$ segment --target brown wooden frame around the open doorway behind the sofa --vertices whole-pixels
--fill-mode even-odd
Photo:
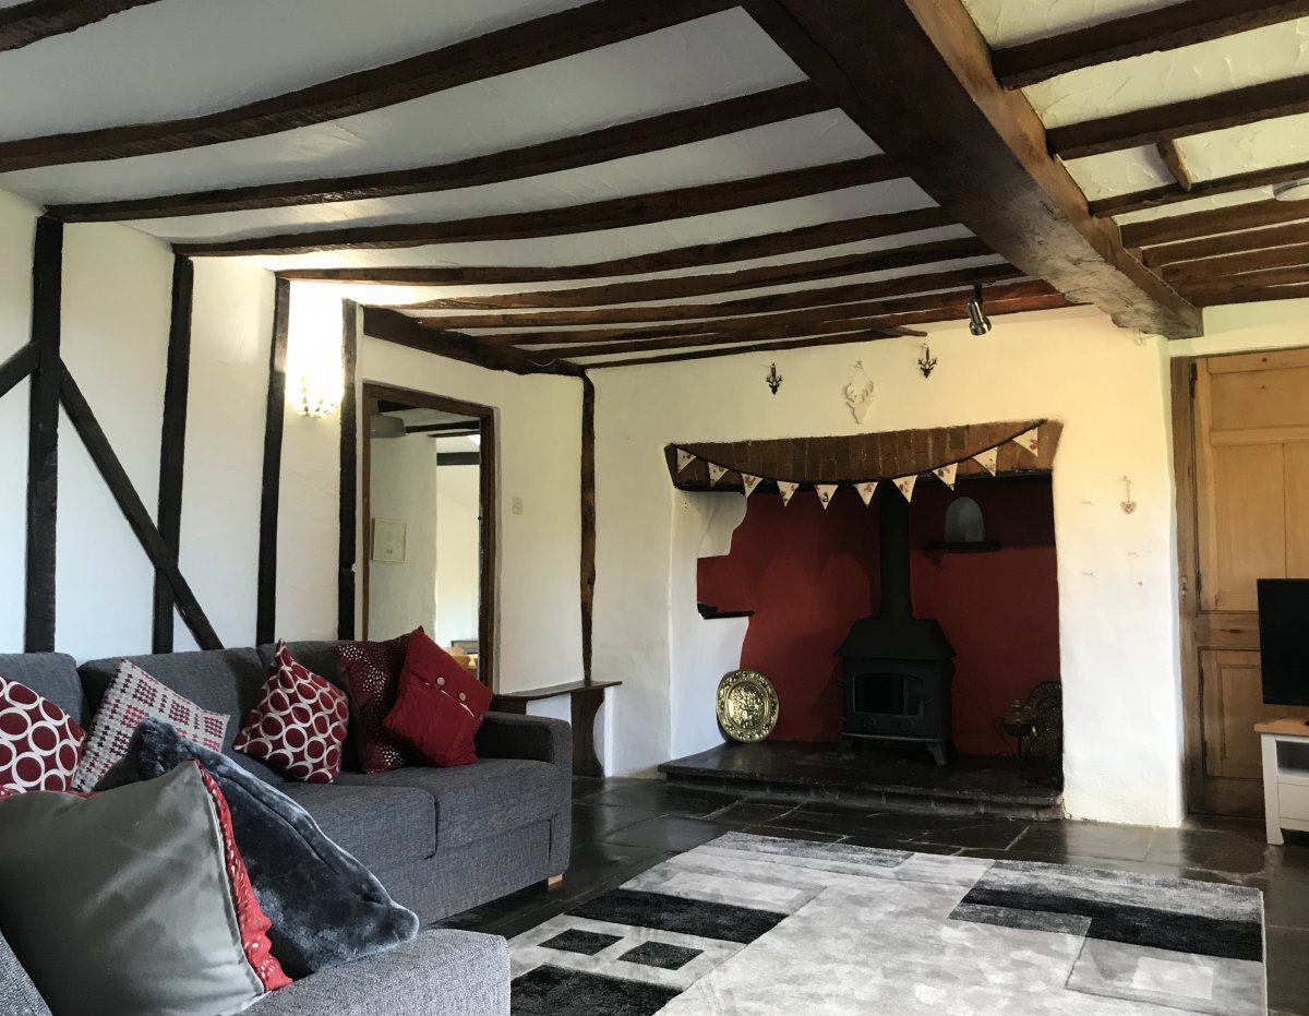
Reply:
[[[480,500],[480,518],[478,521],[478,535],[482,545],[480,554],[480,576],[479,576],[479,589],[478,589],[478,677],[482,680],[487,687],[495,687],[495,673],[496,673],[496,614],[499,600],[496,598],[499,589],[499,512],[500,512],[500,492],[497,482],[497,448],[496,448],[496,428],[495,428],[495,408],[491,406],[482,406],[476,402],[463,402],[462,399],[446,398],[445,395],[436,395],[431,391],[418,391],[410,388],[398,388],[395,385],[386,385],[374,381],[364,381],[360,389],[360,399],[363,406],[363,412],[360,412],[363,433],[363,448],[360,450],[361,460],[361,487],[363,487],[363,512],[361,525],[363,542],[360,546],[364,553],[360,554],[363,562],[363,573],[360,575],[360,600],[363,601],[361,613],[361,638],[368,638],[368,583],[369,571],[372,568],[372,456],[370,445],[372,439],[369,436],[369,412],[368,407],[372,399],[389,399],[391,402],[403,402],[406,405],[414,406],[415,408],[425,410],[439,410],[441,412],[457,412],[463,416],[473,416],[478,420],[478,426],[482,431],[482,466],[478,474],[478,492]],[[435,511],[435,505],[433,505]]]

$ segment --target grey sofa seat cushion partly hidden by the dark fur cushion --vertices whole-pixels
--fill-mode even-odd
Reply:
[[[421,789],[339,783],[283,783],[278,789],[365,868],[398,868],[436,854],[436,805]]]

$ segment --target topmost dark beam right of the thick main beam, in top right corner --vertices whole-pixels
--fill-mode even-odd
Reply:
[[[1309,0],[1189,0],[1102,21],[992,54],[1005,88],[1025,88],[1083,67],[1177,50],[1309,16]]]

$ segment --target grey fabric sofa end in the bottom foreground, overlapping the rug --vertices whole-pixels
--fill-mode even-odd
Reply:
[[[254,1016],[509,1016],[509,944],[433,928],[264,996]]]

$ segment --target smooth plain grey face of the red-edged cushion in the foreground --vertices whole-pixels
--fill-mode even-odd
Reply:
[[[59,1016],[223,1016],[264,994],[194,765],[0,801],[0,927]]]

